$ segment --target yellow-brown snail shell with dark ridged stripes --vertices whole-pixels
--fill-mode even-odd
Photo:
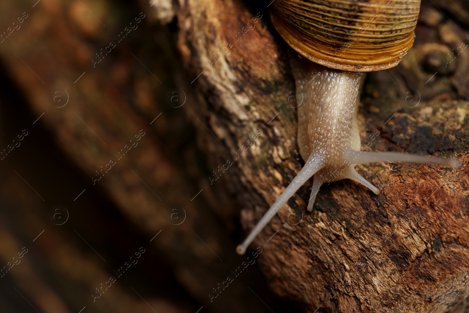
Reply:
[[[414,42],[420,0],[275,0],[272,23],[298,53],[329,68],[396,66]]]

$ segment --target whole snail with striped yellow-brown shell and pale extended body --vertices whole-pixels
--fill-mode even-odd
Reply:
[[[361,148],[356,115],[365,72],[392,68],[408,52],[420,0],[275,0],[272,7],[275,29],[296,52],[290,53],[290,65],[296,94],[303,94],[303,104],[297,108],[297,143],[305,164],[237,246],[238,254],[246,252],[279,209],[313,176],[308,211],[326,182],[349,178],[378,194],[379,189],[356,172],[356,164],[458,164],[457,160]]]

